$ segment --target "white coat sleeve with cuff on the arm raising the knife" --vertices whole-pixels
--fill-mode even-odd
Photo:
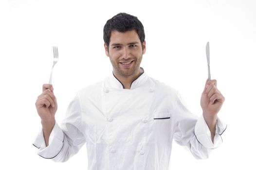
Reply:
[[[203,118],[193,115],[185,106],[180,94],[177,95],[175,103],[176,129],[174,140],[188,150],[197,159],[206,159],[212,149],[222,143],[221,135],[226,129],[226,124],[219,118],[216,124],[214,143],[211,140],[210,130]]]

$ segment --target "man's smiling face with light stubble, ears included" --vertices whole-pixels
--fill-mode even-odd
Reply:
[[[125,33],[112,31],[109,48],[106,44],[104,46],[115,75],[128,77],[140,72],[142,55],[146,52],[146,42],[141,44],[135,30]]]

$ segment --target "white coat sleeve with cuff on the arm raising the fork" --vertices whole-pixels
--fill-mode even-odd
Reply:
[[[41,130],[33,145],[37,147],[37,154],[46,159],[56,162],[65,162],[86,142],[81,123],[81,107],[78,95],[70,103],[65,118],[60,125],[55,123],[46,147]]]

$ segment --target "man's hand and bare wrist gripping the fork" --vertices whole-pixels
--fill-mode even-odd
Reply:
[[[58,107],[53,91],[54,88],[52,85],[43,85],[43,92],[38,96],[36,102],[37,113],[41,118],[46,146],[48,146],[49,136],[55,125],[55,113]]]

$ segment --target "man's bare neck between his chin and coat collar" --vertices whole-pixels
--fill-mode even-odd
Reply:
[[[141,75],[140,68],[130,76],[122,76],[113,70],[114,76],[122,83],[125,89],[130,89],[131,83]]]

